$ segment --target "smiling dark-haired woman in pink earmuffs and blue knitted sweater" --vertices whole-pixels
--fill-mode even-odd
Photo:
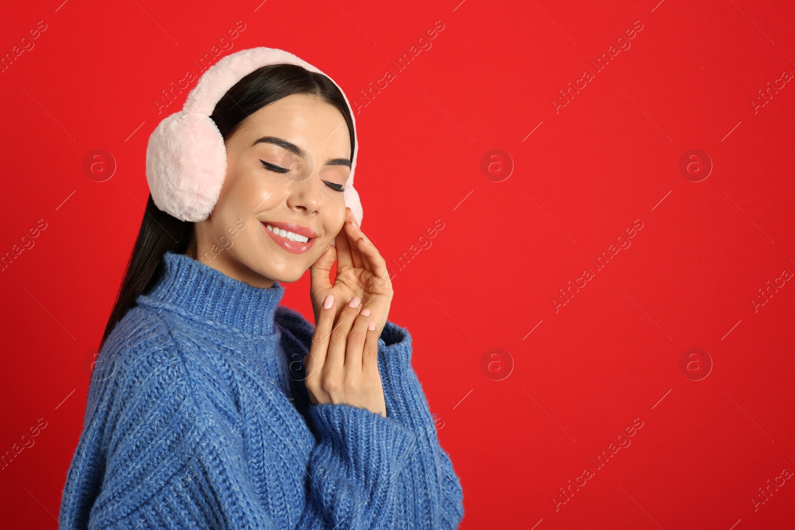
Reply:
[[[342,91],[252,48],[180,113],[149,141],[60,528],[456,528],[460,482],[356,219]],[[315,326],[279,305],[307,269]]]

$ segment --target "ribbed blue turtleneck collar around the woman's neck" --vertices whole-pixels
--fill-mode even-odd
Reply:
[[[168,308],[200,322],[228,327],[246,335],[271,335],[276,308],[285,288],[253,287],[185,254],[167,251],[163,276],[138,303]]]

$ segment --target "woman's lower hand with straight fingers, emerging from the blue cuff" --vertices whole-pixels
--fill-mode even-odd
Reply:
[[[328,295],[325,302],[312,346],[304,356],[309,400],[312,404],[350,404],[386,417],[378,372],[378,333],[370,311],[354,297],[339,308],[336,318],[334,296]]]

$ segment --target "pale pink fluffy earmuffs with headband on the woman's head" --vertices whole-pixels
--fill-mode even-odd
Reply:
[[[325,75],[312,64],[281,49],[259,47],[240,50],[208,68],[188,94],[182,110],[164,118],[155,128],[146,145],[146,180],[152,199],[161,211],[183,221],[207,219],[218,202],[227,174],[227,148],[210,114],[215,104],[240,79],[257,68],[279,63],[297,64],[310,72]],[[334,79],[332,83],[343,92]],[[356,119],[344,92],[343,99],[351,111],[355,131]],[[357,137],[351,153],[351,175],[345,183],[343,198],[361,225],[362,203],[359,193],[353,188],[358,152]]]

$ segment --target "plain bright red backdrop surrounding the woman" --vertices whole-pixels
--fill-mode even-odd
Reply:
[[[154,101],[237,21],[231,51],[293,52],[351,103],[395,74],[356,116],[356,188],[387,260],[444,223],[392,265],[390,319],[413,335],[463,485],[462,528],[792,528],[792,478],[751,501],[795,471],[795,285],[751,302],[795,273],[795,83],[751,103],[795,73],[792,2],[456,1],[2,8],[2,54],[47,25],[0,74],[0,253],[46,222],[0,273],[2,454],[46,422],[0,473],[8,528],[56,528],[86,360],[149,193],[146,141],[187,90],[162,114]],[[390,61],[436,21],[432,47],[398,72]],[[596,72],[589,60],[635,21],[631,47]],[[595,78],[556,113],[586,69]],[[107,181],[83,172],[93,149],[117,164]],[[491,149],[506,154],[484,174]],[[680,172],[689,149],[711,158],[705,180]],[[636,219],[631,246],[595,270]],[[586,268],[595,277],[556,311]],[[308,285],[290,284],[284,302],[311,318]],[[712,360],[700,381],[686,375],[706,357],[680,369],[693,347]],[[491,348],[508,353],[483,371]],[[597,468],[636,418],[630,446]],[[586,466],[594,476],[563,503]]]

